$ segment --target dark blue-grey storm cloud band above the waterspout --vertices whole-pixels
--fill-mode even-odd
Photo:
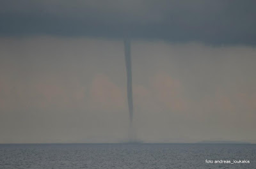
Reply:
[[[1,1],[1,36],[51,34],[256,45],[256,1]]]

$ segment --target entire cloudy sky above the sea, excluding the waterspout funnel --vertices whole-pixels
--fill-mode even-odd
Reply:
[[[1,1],[0,143],[256,142],[255,1]]]

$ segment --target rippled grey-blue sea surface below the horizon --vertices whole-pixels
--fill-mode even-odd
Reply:
[[[0,144],[0,168],[256,168],[256,144]]]

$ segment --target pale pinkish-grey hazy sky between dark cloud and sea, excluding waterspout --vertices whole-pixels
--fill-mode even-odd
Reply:
[[[0,142],[122,142],[123,40],[2,38]],[[255,142],[254,47],[132,41],[144,142]]]

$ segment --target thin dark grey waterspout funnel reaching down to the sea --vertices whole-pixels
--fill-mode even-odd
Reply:
[[[132,65],[131,65],[131,41],[129,39],[124,40],[124,52],[125,52],[125,66],[127,74],[127,100],[129,107],[130,128],[129,139],[134,140],[134,129],[132,126],[133,120],[133,101],[132,101]]]

